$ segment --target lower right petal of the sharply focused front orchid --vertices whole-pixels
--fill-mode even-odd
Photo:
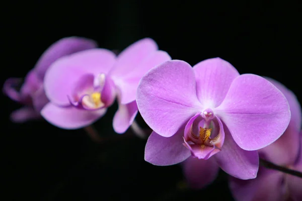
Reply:
[[[221,151],[213,156],[219,167],[236,178],[255,178],[259,168],[258,152],[241,149],[235,143],[230,131],[225,128],[225,125],[224,134],[224,143]]]

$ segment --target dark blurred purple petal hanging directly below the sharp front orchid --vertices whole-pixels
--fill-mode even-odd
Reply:
[[[212,183],[219,171],[214,158],[203,160],[191,156],[182,163],[182,167],[189,186],[195,189]]]

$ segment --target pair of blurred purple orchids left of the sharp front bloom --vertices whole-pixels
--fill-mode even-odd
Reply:
[[[70,37],[49,47],[27,75],[20,92],[19,79],[6,81],[4,92],[26,108],[12,114],[14,121],[43,117],[63,129],[86,127],[105,113],[114,100],[118,111],[113,128],[124,133],[136,114],[136,88],[140,78],[152,67],[171,60],[145,38],[127,47],[118,56],[97,48],[96,42]]]

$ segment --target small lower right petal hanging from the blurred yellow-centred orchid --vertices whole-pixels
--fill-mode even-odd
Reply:
[[[137,114],[137,105],[133,101],[129,104],[119,104],[113,118],[113,129],[116,133],[125,133]]]

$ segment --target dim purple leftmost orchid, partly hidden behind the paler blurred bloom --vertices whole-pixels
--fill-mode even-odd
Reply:
[[[35,67],[28,72],[20,91],[16,90],[16,86],[20,85],[22,78],[7,79],[3,87],[4,93],[16,102],[25,105],[11,114],[12,121],[22,123],[41,118],[40,111],[48,103],[43,89],[43,79],[47,68],[62,56],[95,47],[97,47],[97,43],[86,38],[60,39],[42,54]]]

